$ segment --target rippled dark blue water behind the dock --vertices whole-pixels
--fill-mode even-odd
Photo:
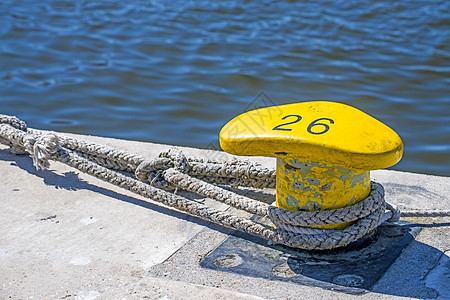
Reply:
[[[0,113],[206,148],[245,110],[333,100],[400,134],[394,169],[450,176],[449,12],[429,0],[2,0]]]

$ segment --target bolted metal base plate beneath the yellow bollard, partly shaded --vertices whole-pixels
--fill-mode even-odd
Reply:
[[[268,246],[263,240],[237,233],[209,253],[200,266],[362,294],[375,285],[419,231],[406,222],[385,224],[360,241],[329,251]]]

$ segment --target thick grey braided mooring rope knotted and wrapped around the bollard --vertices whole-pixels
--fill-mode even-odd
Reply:
[[[326,211],[290,211],[254,200],[225,188],[225,185],[274,188],[276,171],[245,161],[219,162],[186,157],[176,149],[158,158],[27,128],[16,117],[0,115],[0,143],[17,154],[28,153],[34,166],[49,167],[55,160],[116,186],[164,205],[198,216],[220,226],[243,231],[273,244],[307,250],[325,250],[348,245],[373,231],[385,221],[395,222],[400,210],[384,200],[384,189],[371,182],[369,196],[349,207]],[[124,175],[125,171],[130,175]],[[177,194],[197,193],[249,213],[267,217],[274,226],[259,224]],[[388,210],[386,212],[386,210]],[[411,211],[403,216],[449,216],[450,211]],[[342,230],[312,226],[354,222]]]

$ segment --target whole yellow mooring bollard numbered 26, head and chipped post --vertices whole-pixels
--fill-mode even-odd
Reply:
[[[366,198],[370,170],[396,164],[403,143],[388,126],[336,102],[310,101],[241,114],[220,131],[224,151],[277,157],[278,207],[318,211]],[[319,226],[342,229],[350,223]]]

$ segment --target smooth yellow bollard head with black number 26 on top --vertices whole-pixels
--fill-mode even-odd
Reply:
[[[402,140],[391,128],[330,101],[249,111],[228,122],[219,137],[231,154],[296,157],[353,170],[386,168],[403,154]]]

